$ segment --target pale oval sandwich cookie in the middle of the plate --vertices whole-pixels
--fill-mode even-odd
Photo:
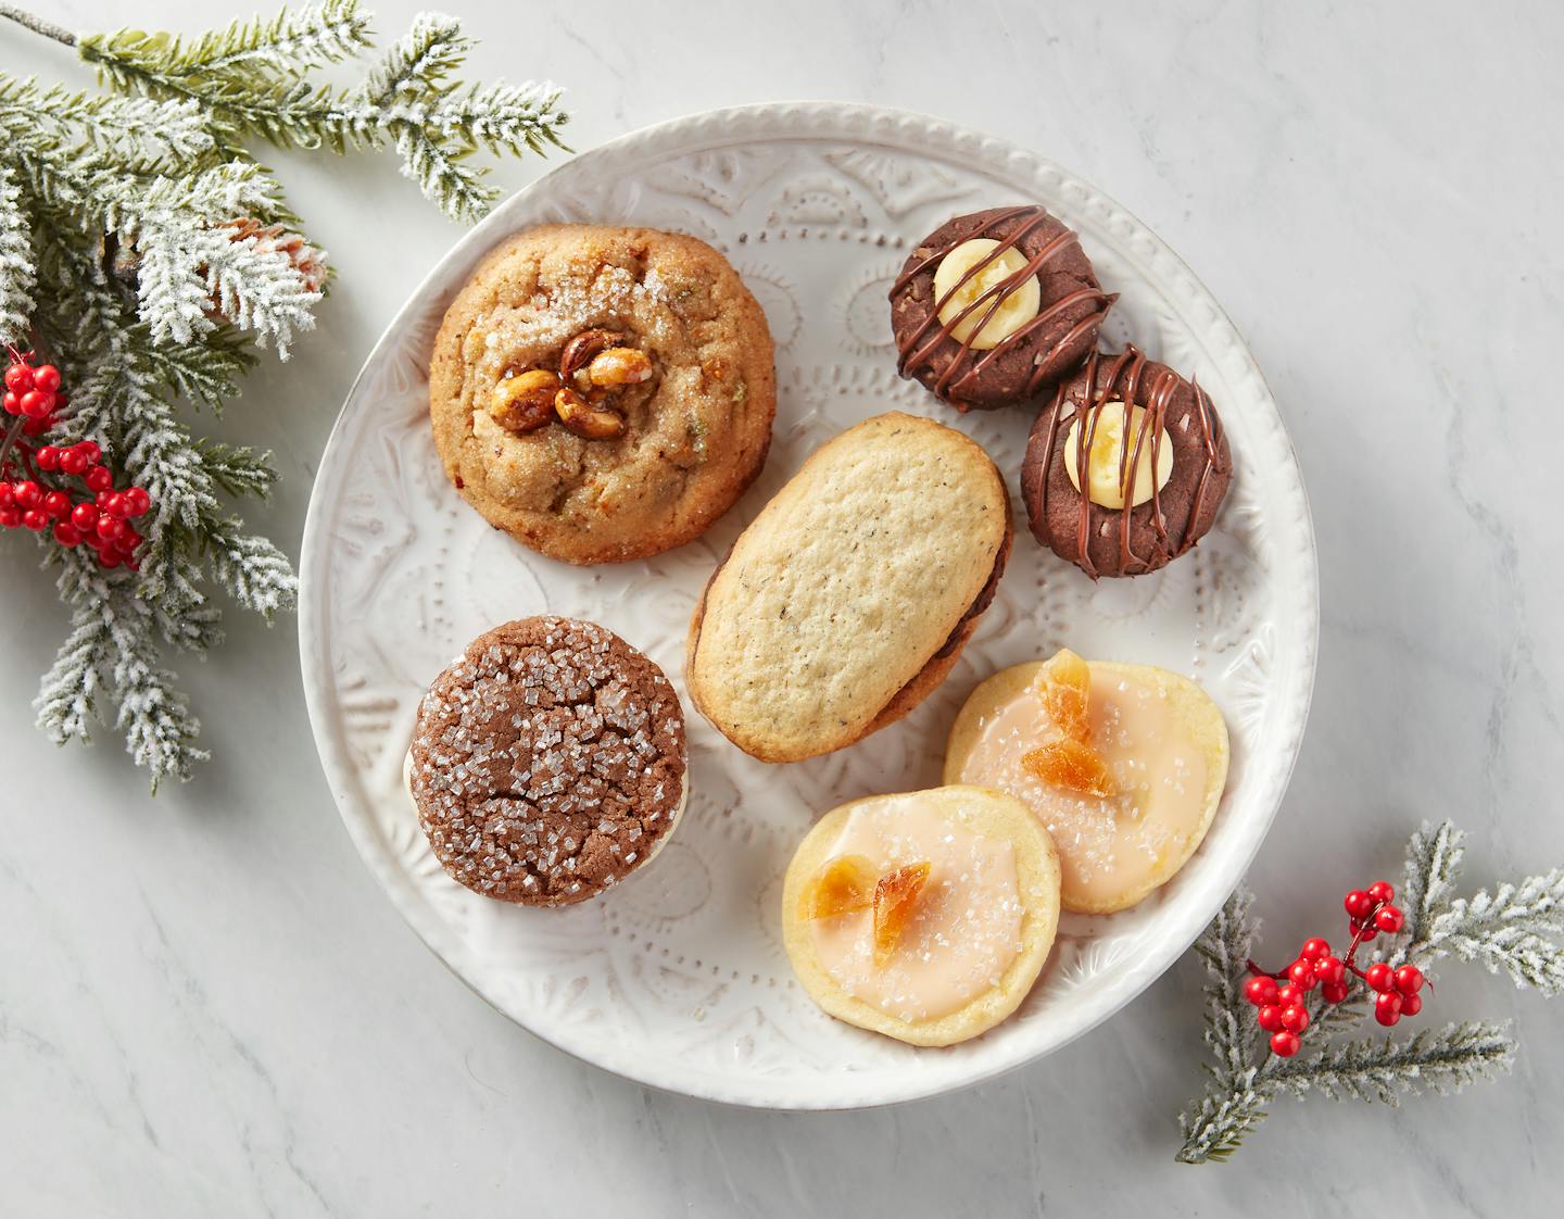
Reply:
[[[1009,496],[978,444],[898,412],[849,427],[712,574],[690,698],[766,762],[851,745],[945,679],[1009,549]]]

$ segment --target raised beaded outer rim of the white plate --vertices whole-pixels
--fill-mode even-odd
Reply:
[[[591,177],[593,174],[612,169],[616,163],[630,160],[644,163],[652,156],[673,158],[740,144],[823,138],[841,138],[863,147],[877,147],[902,155],[931,153],[945,163],[959,164],[973,172],[1017,183],[1028,180],[1038,183],[1043,177],[1054,175],[1059,183],[1082,191],[1085,207],[1096,205],[1106,208],[1107,214],[1103,224],[1117,224],[1140,241],[1148,250],[1139,255],[1142,261],[1148,258],[1156,260],[1164,272],[1162,279],[1168,275],[1178,277],[1179,297],[1176,304],[1186,310],[1203,307],[1209,313],[1209,318],[1203,322],[1184,318],[1190,332],[1196,335],[1196,341],[1209,349],[1211,336],[1225,330],[1229,346],[1237,351],[1245,363],[1245,376],[1256,380],[1259,396],[1270,405],[1273,418],[1267,423],[1273,424],[1275,437],[1282,446],[1281,457],[1273,463],[1273,469],[1284,469],[1292,476],[1290,485],[1281,488],[1281,493],[1284,498],[1290,498],[1293,507],[1298,510],[1298,520],[1293,523],[1292,534],[1297,551],[1292,559],[1301,563],[1300,571],[1303,574],[1301,587],[1287,590],[1290,598],[1297,598],[1293,609],[1301,615],[1298,624],[1303,634],[1300,638],[1301,656],[1293,673],[1293,696],[1290,704],[1284,707],[1286,715],[1278,729],[1284,740],[1275,742],[1273,750],[1251,761],[1251,765],[1261,765],[1262,762],[1267,765],[1264,775],[1265,784],[1259,790],[1257,800],[1251,801],[1253,809],[1243,820],[1229,815],[1220,825],[1221,834],[1229,840],[1228,865],[1218,878],[1220,883],[1207,884],[1201,900],[1186,900],[1184,904],[1189,909],[1182,911],[1182,917],[1176,925],[1160,933],[1160,939],[1151,945],[1153,950],[1142,953],[1142,959],[1121,965],[1112,978],[1093,986],[1093,994],[1073,1005],[1067,1017],[1042,1022],[1034,1027],[1032,1036],[1013,1039],[1009,1055],[995,1056],[993,1061],[984,1063],[982,1069],[974,1069],[976,1064],[963,1069],[960,1047],[956,1047],[951,1052],[943,1052],[948,1056],[937,1064],[943,1069],[901,1070],[896,1073],[895,1084],[885,1083],[884,1077],[895,1070],[887,1069],[876,1073],[877,1086],[873,1089],[863,1086],[870,1080],[854,1080],[846,1072],[840,1077],[765,1077],[765,1083],[760,1083],[754,1078],[740,1080],[718,1070],[696,1069],[677,1061],[638,1059],[633,1047],[629,1050],[610,1050],[601,1044],[588,1047],[572,1042],[565,1034],[565,1030],[544,1028],[536,1020],[529,1022],[524,1014],[511,1011],[504,1001],[496,998],[485,984],[485,973],[488,970],[485,962],[421,898],[410,876],[396,862],[380,828],[368,811],[369,796],[360,787],[358,768],[352,764],[349,754],[338,714],[336,692],[330,681],[332,638],[325,613],[330,593],[324,565],[330,562],[330,527],[333,524],[335,507],[330,488],[335,487],[343,473],[343,465],[349,457],[350,446],[343,438],[346,424],[352,412],[372,408],[371,404],[360,399],[366,380],[385,360],[388,352],[393,351],[399,333],[418,311],[429,288],[443,277],[447,268],[457,263],[471,263],[504,233],[516,227],[518,213],[535,197],[546,197],[551,189],[558,189],[561,183],[568,183],[574,175]],[[1126,254],[1126,257],[1129,255]],[[1182,260],[1121,205],[1043,156],[1007,141],[985,136],[932,116],[837,102],[762,103],[671,119],[580,153],[499,205],[482,224],[457,241],[436,261],[364,360],[344,399],[344,405],[338,413],[321,458],[321,468],[310,496],[300,559],[299,651],[305,701],[321,764],[343,822],[366,867],[382,887],[385,887],[393,904],[425,945],[474,992],[499,1011],[540,1039],[582,1061],[593,1063],[594,1066],[654,1088],[759,1108],[862,1108],[935,1095],[993,1078],[1045,1053],[1051,1053],[1129,1003],[1140,991],[1160,976],[1182,955],[1189,944],[1193,942],[1195,936],[1198,936],[1200,930],[1226,898],[1231,887],[1242,878],[1243,870],[1259,850],[1265,831],[1279,809],[1293,764],[1297,762],[1314,687],[1317,649],[1318,570],[1314,527],[1309,516],[1308,494],[1292,452],[1290,438],[1275,410],[1275,401],[1264,383],[1264,376],[1237,329]],[[1217,829],[1214,828],[1212,836],[1207,839],[1207,847],[1203,847],[1203,850],[1209,848],[1215,836]]]

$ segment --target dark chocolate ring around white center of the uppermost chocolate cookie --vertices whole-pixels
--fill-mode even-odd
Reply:
[[[1023,332],[992,351],[942,333],[934,277],[942,258],[973,238],[1013,243],[1037,268],[1040,308]],[[901,372],[959,410],[992,410],[1051,390],[1096,344],[1114,297],[1103,293],[1076,235],[1040,207],[956,216],[907,258],[890,294]]]

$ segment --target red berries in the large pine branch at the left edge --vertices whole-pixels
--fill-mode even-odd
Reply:
[[[0,449],[0,527],[48,529],[61,546],[92,546],[103,566],[124,563],[135,570],[141,534],[131,521],[150,510],[152,496],[142,487],[114,490],[103,451],[91,440],[36,449],[22,440],[53,427],[55,412],[64,405],[58,368],[33,368],[13,351],[5,387],[5,410],[16,421]],[[77,498],[77,480],[84,498]]]

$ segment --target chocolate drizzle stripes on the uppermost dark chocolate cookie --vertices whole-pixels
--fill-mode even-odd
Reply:
[[[921,257],[915,255],[913,260],[909,260],[907,268],[896,279],[896,283],[891,285],[891,302],[907,291],[918,275],[932,272],[938,268],[940,261],[943,261],[945,257],[957,246],[978,238],[987,238],[998,243],[985,258],[968,268],[967,274],[962,275],[948,293],[935,297],[932,308],[929,310],[929,316],[924,318],[921,324],[912,327],[907,333],[899,336],[896,344],[896,371],[904,377],[917,377],[923,372],[932,372],[935,352],[938,352],[948,341],[957,343],[960,347],[957,357],[946,365],[929,388],[940,397],[956,402],[960,410],[965,410],[965,404],[957,401],[963,397],[963,388],[970,390],[976,379],[981,377],[984,371],[995,363],[995,360],[1006,352],[1015,351],[1023,343],[1032,341],[1034,336],[1038,336],[1037,341],[1040,343],[1045,327],[1057,322],[1079,305],[1092,304],[1093,308],[1090,313],[1078,319],[1059,341],[1053,343],[1046,351],[1040,351],[1034,357],[1032,372],[1028,377],[1024,390],[1020,396],[1031,397],[1042,390],[1051,377],[1056,377],[1060,369],[1053,366],[1054,354],[1068,351],[1071,344],[1095,335],[1096,329],[1103,324],[1103,318],[1107,316],[1109,307],[1118,299],[1117,293],[1104,293],[1095,285],[1078,288],[1065,293],[1056,300],[1045,300],[1035,318],[1031,318],[1012,335],[1007,335],[988,351],[979,354],[978,349],[973,347],[973,340],[982,332],[984,325],[988,324],[993,315],[998,313],[999,305],[1010,293],[1026,283],[1029,277],[1042,272],[1043,268],[1064,250],[1079,244],[1076,233],[1068,228],[1062,228],[1059,233],[1048,238],[1035,254],[1028,257],[1026,266],[1020,271],[985,289],[976,300],[957,311],[948,322],[940,322],[940,310],[943,310],[945,305],[949,304],[949,300],[962,288],[965,288],[974,275],[982,274],[984,269],[987,269],[995,260],[1001,258],[1007,250],[1021,249],[1021,243],[1028,236],[1051,222],[1054,222],[1053,216],[1037,205],[999,208],[993,211],[976,230],[952,238],[938,249],[924,250],[920,247],[918,254]],[[1006,227],[1009,227],[1010,232],[999,236],[1001,230]],[[981,316],[978,316],[978,322],[971,327],[968,336],[965,340],[957,340],[954,333],[956,329],[967,319],[979,315],[979,311]]]

